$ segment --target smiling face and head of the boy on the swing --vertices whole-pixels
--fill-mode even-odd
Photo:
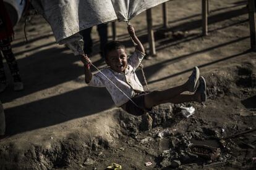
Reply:
[[[106,63],[109,67],[118,72],[123,72],[127,67],[127,54],[125,49],[114,49],[106,56]]]

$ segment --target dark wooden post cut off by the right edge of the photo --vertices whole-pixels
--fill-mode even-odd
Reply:
[[[255,1],[248,0],[249,7],[249,23],[250,23],[250,47],[256,50],[256,34],[255,34]]]

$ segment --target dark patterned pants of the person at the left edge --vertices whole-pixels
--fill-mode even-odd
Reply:
[[[10,43],[10,39],[2,39],[0,40],[0,50],[6,59],[6,62],[10,68],[12,77],[14,78],[14,82],[21,81],[19,67],[17,65],[17,61],[12,53],[12,47]],[[0,52],[0,83],[6,83],[6,74],[4,73],[4,64],[2,63],[3,57]]]

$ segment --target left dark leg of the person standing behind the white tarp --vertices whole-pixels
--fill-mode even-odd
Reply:
[[[93,46],[91,32],[92,32],[92,27],[80,31],[81,35],[83,36],[83,52],[85,52],[85,54],[87,54],[89,57],[90,55],[92,55],[92,46]]]

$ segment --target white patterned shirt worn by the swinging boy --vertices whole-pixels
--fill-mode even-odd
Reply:
[[[134,54],[130,55],[127,67],[124,73],[117,73],[111,70],[110,67],[103,68],[101,72],[111,79],[119,89],[121,89],[128,97],[132,98],[135,95],[135,91],[144,91],[142,84],[140,83],[135,70],[139,67],[145,54],[140,51],[135,51]],[[94,87],[106,87],[108,92],[111,94],[112,99],[117,107],[120,107],[124,103],[128,102],[129,99],[124,95],[113,83],[105,78],[100,72],[92,76],[89,86]]]

